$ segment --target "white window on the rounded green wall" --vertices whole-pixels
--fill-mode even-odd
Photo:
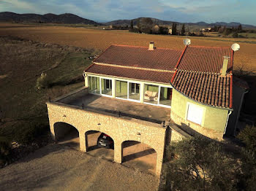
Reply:
[[[187,120],[201,125],[203,120],[203,107],[195,104],[188,104]]]

